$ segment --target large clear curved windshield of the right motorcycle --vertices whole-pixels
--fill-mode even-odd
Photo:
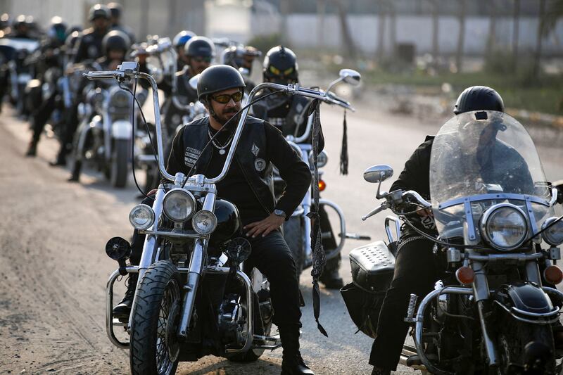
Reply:
[[[441,237],[473,243],[480,241],[476,227],[491,205],[519,206],[529,218],[529,234],[552,215],[551,191],[530,135],[496,111],[462,113],[441,127],[431,151],[430,196]]]

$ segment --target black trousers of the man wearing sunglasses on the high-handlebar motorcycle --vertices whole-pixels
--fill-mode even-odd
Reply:
[[[152,205],[150,198],[143,201]],[[296,265],[280,231],[272,231],[265,237],[255,239],[248,237],[252,246],[250,258],[246,260],[251,266],[265,274],[270,281],[270,295],[274,307],[274,324],[280,329],[298,329],[301,327],[301,310],[299,309],[299,280]],[[132,254],[129,258],[132,265],[139,265],[143,252],[145,236],[134,231]]]

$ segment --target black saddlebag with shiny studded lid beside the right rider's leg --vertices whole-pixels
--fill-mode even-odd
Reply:
[[[375,337],[379,311],[395,269],[395,255],[383,241],[350,251],[352,283],[341,289],[348,314],[359,331]]]

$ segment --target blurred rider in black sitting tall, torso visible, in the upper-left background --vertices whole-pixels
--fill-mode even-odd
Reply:
[[[90,8],[88,20],[92,27],[84,30],[80,42],[77,43],[75,63],[96,60],[103,55],[101,41],[110,30],[110,16],[110,9],[103,4],[96,4]]]

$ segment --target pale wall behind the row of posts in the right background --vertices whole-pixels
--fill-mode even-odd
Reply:
[[[269,34],[280,30],[281,18],[272,14],[253,14],[253,35]],[[377,51],[379,18],[377,15],[350,15],[348,25],[356,45],[363,53]],[[459,32],[457,18],[442,16],[438,22],[439,49],[443,54],[455,53]],[[341,49],[342,34],[336,15],[326,15],[321,27],[317,14],[293,14],[286,19],[287,39],[291,46],[310,48],[319,45]],[[465,53],[481,55],[486,48],[489,30],[488,18],[467,18],[465,20]],[[512,45],[512,18],[498,18],[496,24],[496,45],[509,48]],[[389,20],[386,20],[385,46],[391,48]],[[322,32],[322,35],[320,35]],[[538,32],[537,18],[521,18],[519,23],[519,50],[533,50]],[[396,18],[396,40],[416,45],[417,53],[431,52],[432,18],[429,16],[398,15]],[[543,41],[545,55],[563,55],[563,21],[557,23],[555,33]]]

